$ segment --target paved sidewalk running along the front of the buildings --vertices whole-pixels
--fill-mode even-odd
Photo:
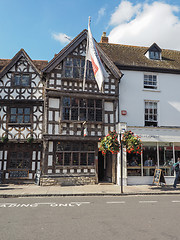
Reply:
[[[180,194],[180,186],[96,184],[84,186],[38,186],[35,184],[0,184],[0,198],[54,196],[127,196]]]

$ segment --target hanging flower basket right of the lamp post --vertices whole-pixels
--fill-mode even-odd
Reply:
[[[142,153],[142,142],[138,135],[134,135],[131,131],[126,131],[122,136],[122,144],[126,146],[128,153]]]

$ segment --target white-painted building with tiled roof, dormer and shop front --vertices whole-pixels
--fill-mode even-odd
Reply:
[[[119,84],[120,123],[143,142],[141,156],[124,153],[124,184],[152,184],[155,168],[172,184],[171,164],[180,156],[180,52],[161,50],[155,43],[149,48],[107,41],[99,45],[124,74]]]

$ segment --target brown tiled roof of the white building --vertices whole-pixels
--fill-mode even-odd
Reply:
[[[180,51],[162,49],[162,60],[148,59],[149,47],[111,43],[98,43],[103,51],[121,69],[144,68],[149,70],[180,71]]]

